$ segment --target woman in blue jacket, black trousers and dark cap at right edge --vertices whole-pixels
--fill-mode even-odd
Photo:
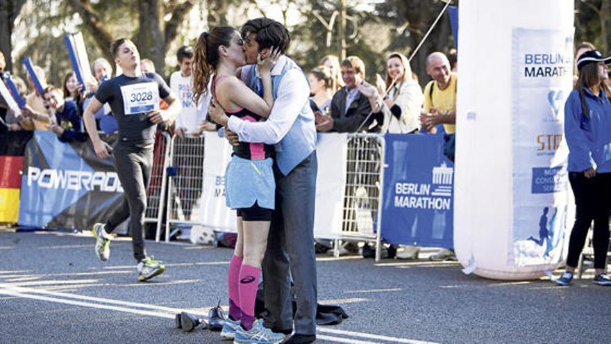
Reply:
[[[609,246],[611,210],[611,92],[605,80],[608,72],[599,51],[582,54],[577,60],[579,78],[564,104],[564,136],[569,145],[569,181],[575,195],[575,224],[569,240],[567,270],[556,280],[567,286],[573,279],[587,231],[594,220],[594,283],[611,285],[604,273]]]

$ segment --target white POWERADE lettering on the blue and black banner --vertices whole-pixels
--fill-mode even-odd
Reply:
[[[28,186],[63,190],[99,190],[106,193],[122,193],[123,188],[116,172],[90,172],[55,170],[28,167]]]

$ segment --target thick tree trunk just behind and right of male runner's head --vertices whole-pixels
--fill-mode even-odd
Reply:
[[[165,77],[165,34],[162,0],[138,0],[139,27],[134,43],[141,58],[153,60],[157,73]]]

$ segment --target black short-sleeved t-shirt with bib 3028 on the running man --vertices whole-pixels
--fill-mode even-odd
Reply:
[[[121,74],[100,85],[95,97],[100,103],[110,105],[112,115],[119,124],[119,140],[155,140],[156,125],[149,120],[147,113],[152,110],[152,103],[156,99],[153,92],[156,90],[159,99],[164,99],[171,92],[167,83],[156,73],[144,73],[136,78]],[[124,94],[128,95],[127,99],[124,99]]]

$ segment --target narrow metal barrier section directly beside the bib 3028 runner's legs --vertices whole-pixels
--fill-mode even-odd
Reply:
[[[147,211],[144,213],[145,223],[156,223],[156,240],[159,241],[163,220],[163,208],[166,193],[166,165],[169,156],[170,136],[166,132],[158,131],[155,134],[155,147],[153,148],[153,167],[151,181],[147,187]]]

